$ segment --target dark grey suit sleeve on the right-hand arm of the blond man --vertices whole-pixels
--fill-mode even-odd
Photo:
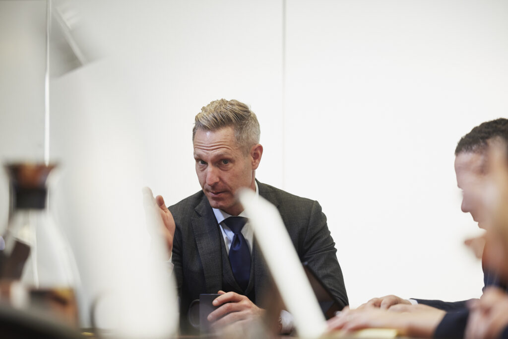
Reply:
[[[320,204],[313,201],[300,259],[308,262],[310,268],[344,307],[349,302],[336,252],[326,215]]]

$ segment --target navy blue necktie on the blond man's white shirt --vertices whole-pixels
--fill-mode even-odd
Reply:
[[[231,263],[235,280],[244,292],[247,289],[250,277],[249,246],[241,233],[246,222],[247,218],[243,217],[229,217],[224,220],[226,226],[235,233],[231,248],[229,249],[229,262]]]

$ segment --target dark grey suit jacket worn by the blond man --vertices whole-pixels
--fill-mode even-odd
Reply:
[[[347,305],[342,271],[336,257],[337,250],[320,204],[259,181],[258,188],[260,196],[274,204],[280,212],[300,260],[309,263],[335,298],[342,302],[342,306]],[[176,224],[173,274],[180,297],[180,319],[185,321],[189,303],[199,299],[200,293],[217,293],[223,289],[225,277],[221,243],[224,243],[224,239],[202,191],[170,206],[169,210]],[[263,307],[263,293],[268,288],[270,278],[256,240],[253,243],[252,257],[254,274],[245,294],[249,295],[253,290],[256,304]]]

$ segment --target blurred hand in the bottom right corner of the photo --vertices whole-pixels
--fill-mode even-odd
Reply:
[[[465,338],[496,338],[508,326],[508,294],[491,287],[469,304]]]

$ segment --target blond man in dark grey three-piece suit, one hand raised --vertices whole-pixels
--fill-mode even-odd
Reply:
[[[196,173],[202,191],[165,207],[156,198],[172,249],[173,274],[185,327],[189,303],[200,293],[222,294],[209,316],[216,326],[263,314],[269,276],[243,207],[235,194],[249,188],[277,206],[301,261],[307,261],[345,306],[347,295],[325,214],[316,201],[297,197],[256,180],[263,155],[256,115],[243,103],[212,101],[196,115],[193,129]],[[233,225],[235,223],[235,225]],[[281,254],[283,255],[283,254]],[[281,332],[291,316],[279,318]]]

